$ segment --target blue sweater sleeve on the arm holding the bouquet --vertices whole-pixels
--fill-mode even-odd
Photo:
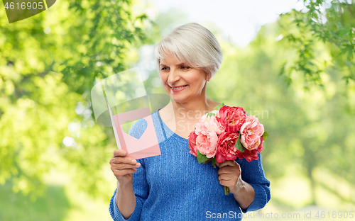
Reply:
[[[263,171],[261,154],[258,154],[258,160],[248,162],[246,159],[240,159],[237,162],[241,166],[241,179],[249,183],[255,192],[253,203],[251,203],[249,208],[246,208],[246,210],[241,208],[241,211],[251,212],[263,208],[270,200],[271,194],[270,181],[266,179],[265,173]]]

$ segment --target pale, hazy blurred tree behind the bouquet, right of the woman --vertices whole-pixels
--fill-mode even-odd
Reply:
[[[310,189],[295,189],[300,196],[307,193],[301,205],[320,204],[317,189],[327,188],[343,203],[354,203],[351,196],[339,193],[337,184],[320,179],[320,169],[332,176],[354,183],[354,110],[355,85],[345,89],[339,69],[320,72],[320,80],[327,90],[322,93],[310,86],[305,93],[302,77],[296,75],[293,84],[280,81],[278,69],[283,60],[297,62],[297,52],[287,39],[280,40],[283,16],[278,23],[263,26],[256,39],[247,47],[222,43],[224,61],[216,77],[207,84],[212,99],[227,105],[241,106],[246,113],[256,115],[270,137],[264,144],[263,166],[266,176],[273,181],[283,176],[305,177]],[[322,47],[314,40],[318,57],[329,57],[332,47]],[[224,89],[221,89],[223,85]],[[344,94],[348,94],[344,96]],[[336,181],[335,181],[336,183]],[[271,183],[271,186],[275,183]],[[275,200],[273,200],[275,198]],[[295,208],[297,203],[285,195],[271,200]]]

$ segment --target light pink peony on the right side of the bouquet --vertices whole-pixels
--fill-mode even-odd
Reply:
[[[259,123],[258,118],[253,115],[246,117],[245,123],[241,126],[241,144],[249,150],[257,149],[261,145],[261,136],[264,133],[264,126]]]

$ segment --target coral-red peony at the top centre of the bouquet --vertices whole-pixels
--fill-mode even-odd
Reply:
[[[246,120],[246,113],[240,107],[223,106],[219,109],[219,118],[227,132],[238,132]]]

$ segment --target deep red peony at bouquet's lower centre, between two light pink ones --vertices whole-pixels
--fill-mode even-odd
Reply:
[[[236,149],[234,145],[238,141],[238,132],[224,132],[218,137],[216,159],[222,163],[226,160],[234,160],[236,157],[243,157],[243,152]]]

